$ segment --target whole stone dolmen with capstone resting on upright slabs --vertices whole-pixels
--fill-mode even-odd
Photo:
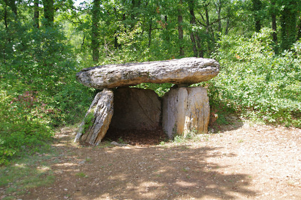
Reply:
[[[81,70],[76,79],[102,90],[90,105],[74,142],[98,145],[108,128],[158,130],[172,138],[191,131],[207,133],[209,99],[203,87],[188,87],[219,73],[213,59],[183,58],[156,62],[101,65]],[[163,97],[140,83],[174,83]]]

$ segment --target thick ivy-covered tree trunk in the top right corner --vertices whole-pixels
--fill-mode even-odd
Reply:
[[[294,0],[287,0],[284,3],[284,9],[281,13],[281,48],[282,50],[289,49],[296,41],[296,2]]]

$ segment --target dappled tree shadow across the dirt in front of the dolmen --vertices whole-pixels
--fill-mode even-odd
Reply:
[[[22,199],[240,199],[254,196],[248,174],[208,159],[236,156],[190,145],[92,147],[61,137],[56,180]],[[224,170],[223,170],[224,169]]]

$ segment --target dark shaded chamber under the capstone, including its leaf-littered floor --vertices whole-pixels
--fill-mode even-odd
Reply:
[[[148,145],[167,138],[161,126],[161,99],[153,90],[118,88],[113,92],[113,116],[103,140]]]

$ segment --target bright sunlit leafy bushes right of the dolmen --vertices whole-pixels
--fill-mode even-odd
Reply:
[[[220,74],[206,87],[213,105],[228,105],[245,116],[300,127],[301,42],[281,55],[273,53],[271,30],[250,39],[224,36],[215,54]]]

